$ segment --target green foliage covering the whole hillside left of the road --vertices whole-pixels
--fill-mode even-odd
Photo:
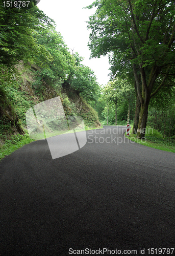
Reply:
[[[1,4],[0,14],[0,158],[33,141],[27,135],[13,134],[22,133],[20,126],[26,127],[26,112],[39,101],[59,95],[66,115],[81,114],[87,125],[99,126],[90,105],[83,101],[78,113],[76,104],[63,93],[66,85],[92,101],[98,98],[99,85],[94,72],[81,65],[83,58],[78,53],[70,54],[54,21],[37,8],[34,0],[29,8]],[[31,65],[37,71],[32,72]],[[48,131],[56,129],[53,113],[46,125]],[[60,126],[64,129],[64,123]]]

